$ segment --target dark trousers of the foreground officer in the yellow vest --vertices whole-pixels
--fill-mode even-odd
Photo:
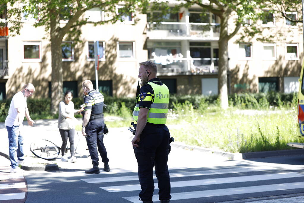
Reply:
[[[133,147],[138,164],[138,178],[143,201],[152,201],[154,191],[153,166],[158,181],[160,200],[171,199],[171,185],[168,171],[168,146],[170,132],[167,126],[147,123],[140,135],[138,147]]]

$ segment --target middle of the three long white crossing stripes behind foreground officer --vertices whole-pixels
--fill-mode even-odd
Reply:
[[[190,187],[199,185],[212,185],[212,184],[225,184],[225,183],[238,183],[238,182],[249,182],[249,181],[262,181],[262,180],[274,180],[280,178],[292,178],[292,177],[303,177],[304,174],[299,173],[278,173],[278,174],[263,174],[263,175],[252,175],[252,176],[239,176],[239,177],[225,177],[225,178],[212,178],[204,180],[194,181],[174,181],[171,182],[171,188],[178,187]],[[154,187],[157,188],[157,183],[154,183]],[[136,191],[141,190],[140,184],[133,185],[119,185],[100,187],[101,189],[108,192],[123,192],[123,191]]]

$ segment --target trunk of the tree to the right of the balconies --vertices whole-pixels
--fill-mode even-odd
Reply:
[[[221,18],[221,30],[219,35],[219,100],[220,107],[222,109],[228,108],[228,82],[227,82],[227,71],[228,71],[228,30],[227,30],[228,18]]]

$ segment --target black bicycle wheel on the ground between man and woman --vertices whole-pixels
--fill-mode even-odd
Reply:
[[[36,157],[45,160],[56,159],[60,153],[60,147],[46,139],[32,142],[29,148]]]

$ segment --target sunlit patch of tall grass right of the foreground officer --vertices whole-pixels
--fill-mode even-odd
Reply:
[[[184,112],[175,109],[175,119],[168,120],[181,124],[181,128],[170,129],[171,136],[189,145],[245,153],[292,149],[287,143],[299,142],[297,113],[292,108],[252,114],[232,110],[205,114],[192,110],[187,111],[189,115]]]

